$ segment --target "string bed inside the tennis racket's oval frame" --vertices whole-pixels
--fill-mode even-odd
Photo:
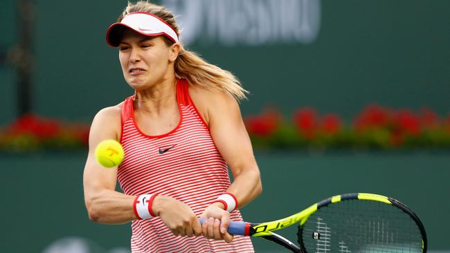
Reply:
[[[318,209],[299,233],[307,252],[422,252],[422,234],[393,205],[345,200]]]

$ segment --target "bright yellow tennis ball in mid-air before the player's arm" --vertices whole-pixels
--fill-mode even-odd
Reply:
[[[116,140],[104,140],[96,147],[96,159],[103,167],[111,168],[120,165],[123,160],[122,145]]]

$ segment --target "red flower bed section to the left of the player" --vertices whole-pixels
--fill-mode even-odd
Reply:
[[[69,124],[37,115],[24,115],[0,129],[3,151],[80,149],[89,142],[89,125]]]

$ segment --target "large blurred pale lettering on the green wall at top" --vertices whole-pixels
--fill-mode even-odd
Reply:
[[[314,41],[320,0],[163,0],[184,43],[262,45]]]

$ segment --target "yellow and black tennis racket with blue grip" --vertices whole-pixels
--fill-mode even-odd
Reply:
[[[273,233],[294,224],[300,247]],[[426,232],[417,215],[377,194],[332,196],[277,221],[232,221],[228,233],[262,237],[292,252],[426,252]]]

